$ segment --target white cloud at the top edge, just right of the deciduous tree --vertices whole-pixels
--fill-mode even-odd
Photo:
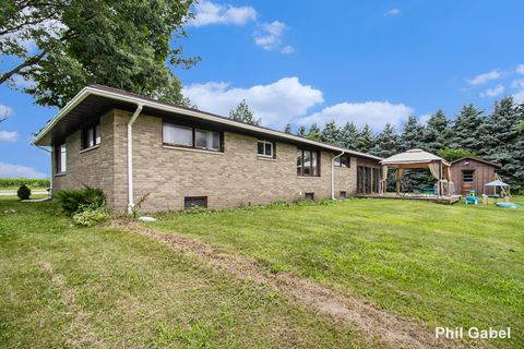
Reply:
[[[245,25],[257,20],[257,11],[251,7],[234,7],[201,0],[194,5],[194,19],[189,25],[199,27],[211,24]]]

